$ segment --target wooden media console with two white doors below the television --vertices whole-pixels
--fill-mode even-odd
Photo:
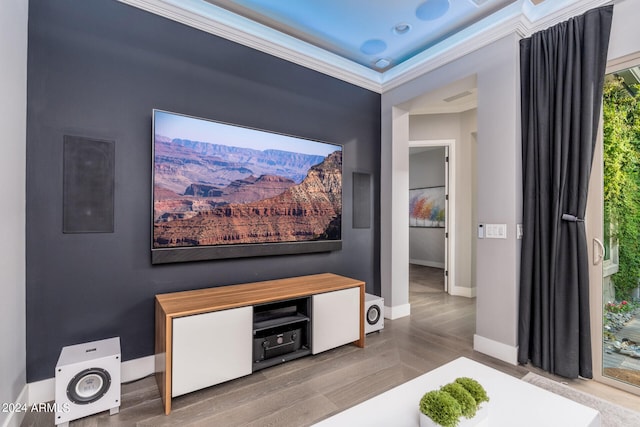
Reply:
[[[350,342],[364,347],[364,299],[363,281],[332,273],[156,295],[155,370],[165,413],[172,397],[262,367]],[[278,327],[286,332],[275,335],[272,355],[256,360],[255,341],[268,347],[260,334]]]

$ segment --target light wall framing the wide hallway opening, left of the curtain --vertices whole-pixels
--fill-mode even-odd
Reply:
[[[476,330],[480,342],[496,344],[484,352],[514,363],[520,253],[514,231],[521,218],[518,42],[515,34],[504,37],[384,93],[381,164],[382,293],[391,298],[390,306],[402,306],[408,304],[402,253],[408,227],[401,217],[408,203],[408,195],[403,198],[408,166],[402,156],[409,140],[409,112],[403,108],[416,96],[477,76],[478,220],[505,223],[509,231],[505,240],[477,242]]]

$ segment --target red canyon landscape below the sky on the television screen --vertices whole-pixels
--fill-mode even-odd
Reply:
[[[342,151],[154,140],[153,247],[341,239]]]

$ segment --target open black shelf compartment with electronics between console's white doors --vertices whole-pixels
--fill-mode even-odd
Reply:
[[[311,354],[309,298],[254,307],[253,371]]]

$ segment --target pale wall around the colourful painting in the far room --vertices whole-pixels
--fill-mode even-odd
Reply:
[[[421,151],[409,156],[409,188],[445,185],[444,147]],[[409,228],[409,262],[444,268],[444,227]]]

